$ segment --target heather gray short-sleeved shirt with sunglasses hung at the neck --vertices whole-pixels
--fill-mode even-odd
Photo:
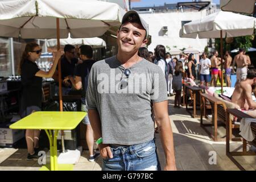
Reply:
[[[127,78],[114,56],[90,71],[86,101],[100,114],[103,143],[133,145],[154,138],[152,103],[167,100],[163,71],[145,59],[129,69]]]

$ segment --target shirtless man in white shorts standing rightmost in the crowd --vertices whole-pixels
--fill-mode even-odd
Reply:
[[[247,66],[249,65],[248,58],[245,55],[245,49],[239,49],[238,55],[234,57],[232,67],[234,68],[235,65],[237,65],[237,82],[245,80],[247,76]]]

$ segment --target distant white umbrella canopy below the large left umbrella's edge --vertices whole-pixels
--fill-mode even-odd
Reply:
[[[67,44],[71,44],[73,46],[74,45],[89,45],[89,46],[106,47],[105,40],[103,40],[101,38],[77,38],[77,39],[67,38],[67,39],[60,39],[60,45],[61,46],[65,46]],[[47,46],[48,47],[57,46],[57,39],[47,40]]]

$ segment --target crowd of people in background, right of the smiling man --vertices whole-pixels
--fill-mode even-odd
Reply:
[[[226,86],[231,87],[232,82],[230,76],[232,74],[234,75],[236,71],[236,88],[234,97],[230,98],[230,101],[238,104],[240,108],[245,110],[254,108],[255,102],[251,98],[251,93],[255,86],[254,82],[249,81],[254,78],[254,69],[252,69],[253,66],[251,65],[250,56],[246,55],[245,49],[239,49],[238,54],[234,56],[234,60],[229,51],[225,52],[224,59],[219,57],[218,51],[213,51],[210,59],[207,53],[203,52],[200,55],[199,62],[197,62],[193,53],[171,55],[169,52],[166,52],[165,47],[162,45],[156,46],[154,53],[148,51],[145,47],[139,48],[138,55],[161,68],[166,77],[168,96],[175,94],[174,107],[180,107],[182,84],[185,80],[188,79],[189,82],[200,81],[199,86],[204,86],[204,88],[208,88],[209,86],[217,87],[220,86],[217,85],[217,81],[224,82],[222,77],[224,78],[225,75]],[[221,72],[221,64],[225,71],[224,74]],[[238,87],[241,87],[243,81],[250,82],[250,85],[254,87],[247,88],[243,91],[240,88],[240,92],[238,92]],[[250,98],[246,94],[242,94],[246,92],[248,92]]]

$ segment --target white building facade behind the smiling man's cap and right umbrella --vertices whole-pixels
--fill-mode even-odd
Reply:
[[[182,9],[181,9],[182,8]],[[177,7],[177,4],[164,4],[163,6],[134,7],[148,23],[151,44],[148,50],[154,52],[158,44],[166,47],[167,52],[171,49],[195,48],[200,52],[208,46],[208,39],[180,38],[181,27],[192,20],[204,18],[210,13],[215,13],[217,6],[210,4],[207,8],[198,11],[188,7]]]

